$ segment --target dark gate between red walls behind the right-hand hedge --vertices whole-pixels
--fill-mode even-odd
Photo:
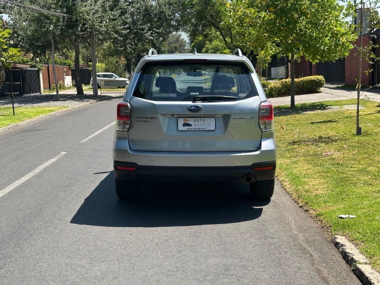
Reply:
[[[335,61],[324,61],[316,63],[316,74],[322,75],[326,82],[343,83],[345,82],[345,63],[344,58]]]

